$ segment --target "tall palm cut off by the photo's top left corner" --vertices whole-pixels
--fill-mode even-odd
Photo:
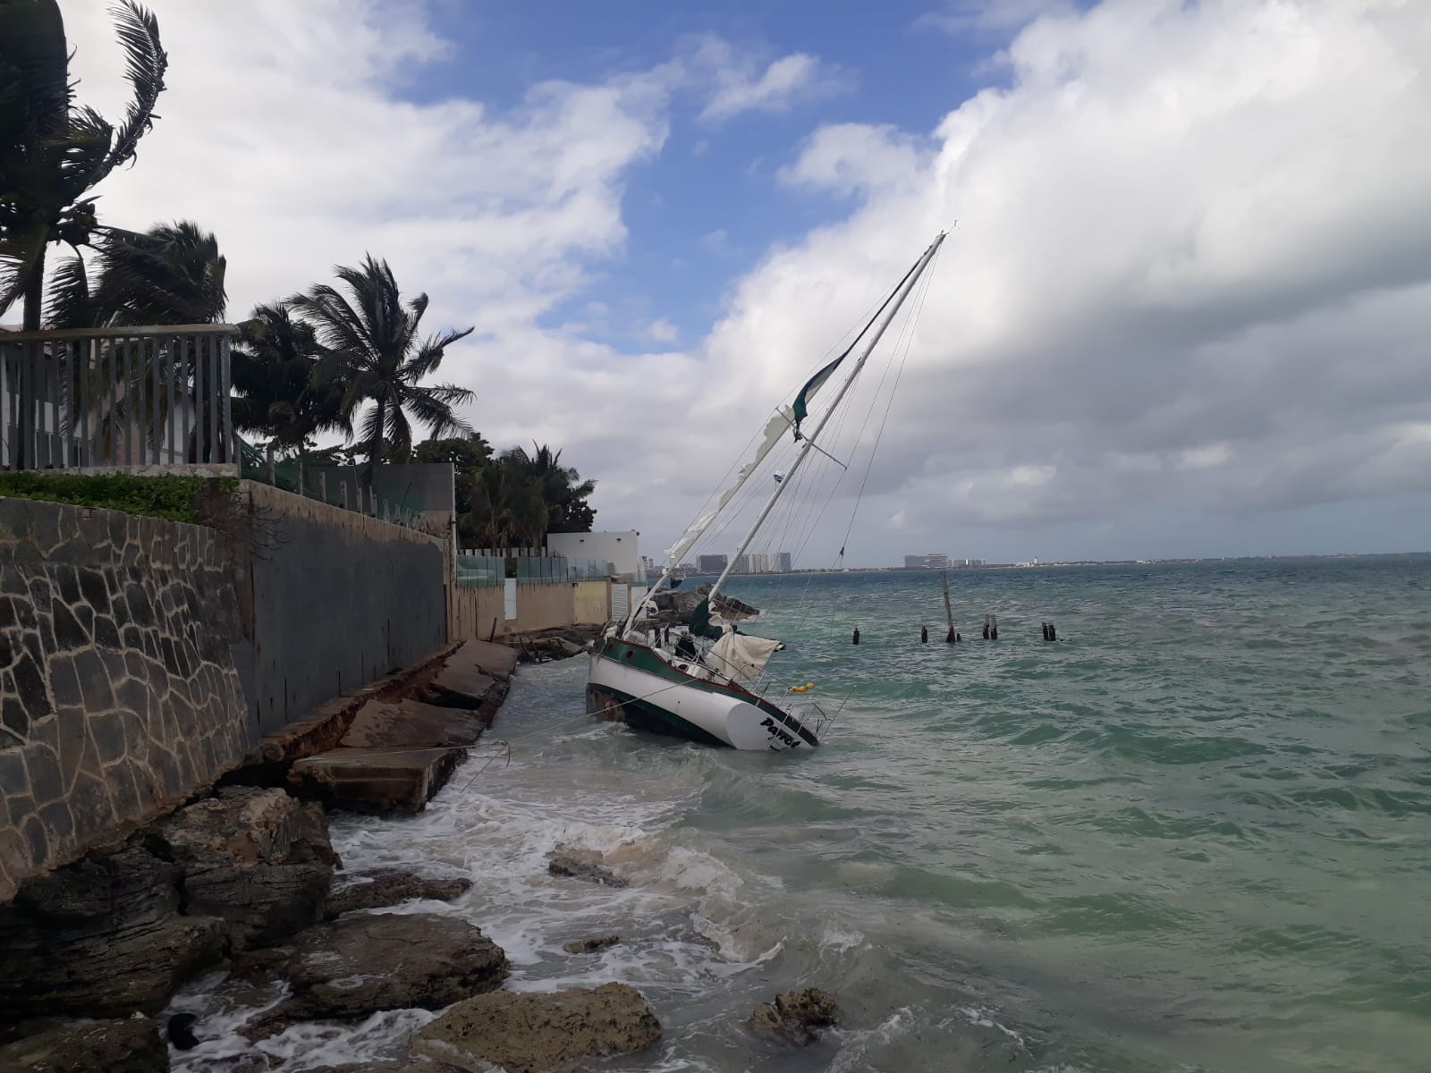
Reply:
[[[40,328],[50,243],[90,245],[84,195],[135,159],[165,89],[159,21],[133,0],[112,10],[133,86],[117,127],[74,100],[57,0],[0,0],[0,313],[23,298],[27,330]]]

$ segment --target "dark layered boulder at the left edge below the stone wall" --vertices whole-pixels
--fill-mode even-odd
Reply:
[[[0,1010],[26,1017],[157,1013],[228,950],[225,921],[176,916],[180,871],[139,846],[20,886],[0,906]]]

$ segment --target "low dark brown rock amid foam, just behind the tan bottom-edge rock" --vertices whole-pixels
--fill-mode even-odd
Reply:
[[[293,989],[252,1026],[250,1039],[298,1020],[438,1010],[501,987],[509,971],[507,954],[481,929],[424,913],[341,917],[286,947],[256,951],[243,966],[278,971]]]

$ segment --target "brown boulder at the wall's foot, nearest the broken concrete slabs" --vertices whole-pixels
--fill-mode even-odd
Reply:
[[[230,787],[153,827],[183,873],[186,911],[229,924],[235,950],[280,943],[319,920],[338,854],[316,804]]]

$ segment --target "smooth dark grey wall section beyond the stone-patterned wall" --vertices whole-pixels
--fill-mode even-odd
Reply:
[[[253,481],[239,501],[240,670],[263,733],[446,644],[445,541]]]

